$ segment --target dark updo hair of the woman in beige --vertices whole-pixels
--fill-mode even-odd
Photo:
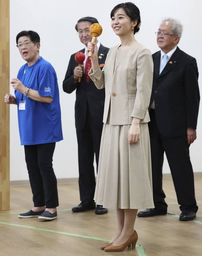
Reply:
[[[139,27],[141,23],[140,12],[138,7],[131,2],[118,4],[111,11],[111,14],[110,14],[111,18],[114,16],[114,13],[118,8],[123,8],[127,16],[130,17],[131,21],[137,20],[137,25],[134,27],[134,34],[137,33],[139,31]]]

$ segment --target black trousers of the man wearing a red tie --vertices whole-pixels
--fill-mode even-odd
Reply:
[[[83,130],[76,129],[78,142],[79,192],[83,202],[93,201],[95,193],[94,154],[98,169],[99,148],[102,130],[93,126],[87,105],[86,121]]]

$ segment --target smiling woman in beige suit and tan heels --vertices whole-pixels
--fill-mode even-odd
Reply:
[[[93,52],[88,74],[98,89],[105,87],[106,93],[94,200],[116,209],[118,222],[115,235],[101,248],[122,251],[137,242],[137,210],[154,207],[147,125],[153,62],[150,51],[134,38],[140,26],[136,5],[128,2],[115,6],[111,18],[121,44],[109,50],[101,71],[97,46],[88,43],[88,51]]]

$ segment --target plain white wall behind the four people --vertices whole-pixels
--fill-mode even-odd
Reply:
[[[17,76],[19,68],[24,64],[15,38],[21,30],[34,30],[41,37],[40,55],[55,68],[60,89],[60,104],[62,111],[62,127],[64,140],[58,142],[54,153],[54,170],[57,178],[78,177],[77,139],[75,133],[74,103],[75,92],[66,94],[62,82],[66,73],[70,55],[83,48],[75,30],[75,23],[84,16],[93,16],[103,26],[100,42],[107,47],[118,44],[110,27],[110,12],[121,3],[119,1],[50,1],[50,0],[10,0],[10,76]],[[201,1],[200,0],[137,0],[135,4],[141,12],[142,25],[136,39],[148,47],[152,53],[158,51],[155,31],[164,17],[181,20],[184,25],[179,47],[197,59],[199,72],[202,70],[201,61]],[[199,84],[200,84],[199,77]],[[14,93],[10,86],[10,93]],[[173,92],[174,93],[174,92]],[[190,147],[191,161],[194,172],[200,172],[202,142],[202,113],[199,112],[197,126],[197,141]],[[28,174],[24,160],[24,148],[20,146],[17,124],[17,108],[11,106],[11,180],[27,180]],[[27,127],[29,130],[29,127]],[[167,161],[164,173],[169,173]]]

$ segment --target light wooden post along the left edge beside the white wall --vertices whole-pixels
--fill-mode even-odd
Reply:
[[[10,1],[0,0],[0,211],[10,210]]]

